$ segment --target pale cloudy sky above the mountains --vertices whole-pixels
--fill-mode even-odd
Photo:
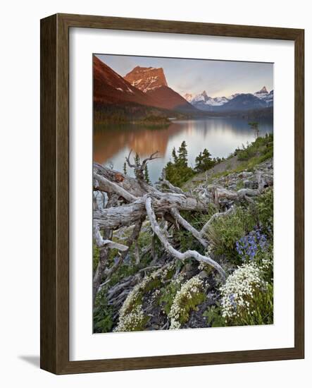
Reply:
[[[273,63],[176,59],[154,56],[96,54],[119,75],[125,76],[135,66],[162,67],[168,86],[185,95],[206,90],[210,97],[234,93],[254,93],[266,86],[273,89]]]

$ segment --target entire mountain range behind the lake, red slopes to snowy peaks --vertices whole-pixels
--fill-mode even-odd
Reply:
[[[209,97],[206,91],[183,97],[168,86],[163,68],[136,66],[122,77],[96,56],[93,57],[94,109],[109,117],[147,115],[203,115],[208,112],[263,111],[273,107],[273,90],[263,87],[254,94]],[[104,113],[103,113],[104,112]],[[112,115],[111,115],[112,116]],[[112,116],[113,117],[113,116]]]

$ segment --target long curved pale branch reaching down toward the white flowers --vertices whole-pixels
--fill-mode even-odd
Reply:
[[[151,229],[153,229],[154,233],[163,244],[163,248],[165,248],[168,253],[173,255],[173,257],[177,258],[178,260],[182,261],[188,258],[194,258],[199,262],[206,262],[206,264],[211,265],[211,267],[215,268],[219,272],[221,279],[225,281],[226,274],[224,269],[217,262],[212,260],[211,257],[200,255],[198,252],[196,252],[196,250],[187,250],[185,253],[181,253],[175,248],[173,248],[173,246],[170,245],[169,241],[167,240],[166,236],[161,231],[160,226],[158,225],[156,214],[152,207],[151,198],[146,198],[145,206],[147,216],[149,217],[149,221],[151,222]]]

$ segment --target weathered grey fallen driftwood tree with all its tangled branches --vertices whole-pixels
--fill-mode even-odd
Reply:
[[[129,156],[126,157],[126,162],[130,168],[134,169],[135,178],[94,163],[94,192],[99,191],[107,197],[105,207],[94,207],[93,214],[94,242],[101,250],[99,264],[94,274],[94,298],[101,288],[101,284],[107,284],[111,274],[120,267],[132,245],[135,244],[136,246],[137,238],[145,220],[149,222],[154,235],[158,237],[158,240],[163,245],[163,249],[173,259],[185,260],[192,257],[199,262],[205,262],[216,269],[218,274],[220,274],[220,278],[225,281],[226,274],[224,269],[208,255],[201,255],[196,250],[187,250],[181,253],[175,249],[173,244],[170,243],[166,223],[189,231],[204,248],[207,248],[209,245],[209,241],[206,238],[208,227],[214,219],[230,214],[234,206],[230,205],[223,211],[219,210],[216,214],[213,214],[200,231],[197,231],[194,226],[189,224],[180,212],[206,212],[210,203],[219,208],[219,201],[222,200],[224,202],[226,199],[231,204],[242,200],[252,201],[252,197],[259,195],[265,187],[261,172],[257,172],[258,189],[256,190],[241,189],[231,191],[211,186],[206,187],[204,191],[201,190],[201,195],[196,195],[194,190],[192,193],[185,193],[180,188],[173,186],[166,180],[164,171],[160,181],[155,186],[151,186],[144,181],[144,169],[148,162],[156,159],[156,154],[157,152],[151,154],[149,158],[144,159],[141,163],[132,163],[130,161],[130,152]],[[161,224],[164,222],[165,226],[161,227]],[[127,241],[124,244],[112,241],[113,231],[118,231],[118,229],[125,226],[133,226],[132,234],[127,238]],[[116,258],[114,265],[108,267],[108,254],[111,249],[117,249],[119,256]],[[149,247],[149,250],[152,252],[153,246]],[[139,260],[139,257],[137,257],[137,260]]]

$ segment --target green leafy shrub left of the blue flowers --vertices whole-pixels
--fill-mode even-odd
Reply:
[[[254,216],[244,207],[237,207],[227,216],[215,219],[207,232],[213,252],[225,255],[228,260],[238,264],[241,259],[235,249],[235,243],[255,225]]]

